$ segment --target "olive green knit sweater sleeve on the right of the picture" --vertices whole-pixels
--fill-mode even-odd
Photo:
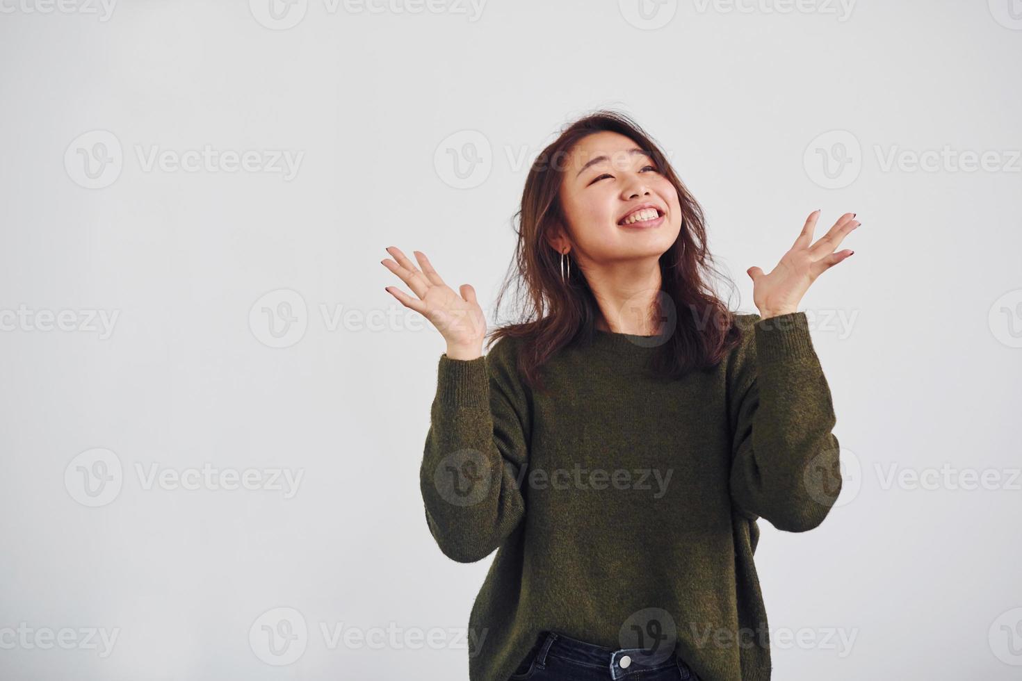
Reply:
[[[751,520],[804,532],[841,491],[830,388],[804,312],[744,318],[729,369],[733,504]]]

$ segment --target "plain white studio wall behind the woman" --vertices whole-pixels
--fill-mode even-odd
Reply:
[[[802,304],[844,492],[760,522],[775,678],[1022,674],[1017,0],[0,9],[0,677],[467,678],[493,558],[426,527],[445,345],[380,260],[492,305],[529,161],[600,107],[742,310],[811,210],[863,222]]]

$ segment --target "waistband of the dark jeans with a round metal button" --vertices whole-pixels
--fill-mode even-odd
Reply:
[[[647,648],[608,648],[588,641],[580,641],[557,631],[544,631],[537,639],[538,662],[546,665],[548,655],[570,662],[602,667],[611,679],[621,679],[635,672],[677,666],[682,678],[689,678],[691,669],[675,654],[675,650]]]

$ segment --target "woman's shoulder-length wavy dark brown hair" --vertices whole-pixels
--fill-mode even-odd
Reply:
[[[678,178],[667,158],[638,124],[626,114],[601,109],[569,124],[532,162],[525,179],[521,206],[515,212],[518,244],[508,277],[497,297],[499,309],[513,280],[523,321],[491,332],[491,343],[503,337],[523,340],[518,368],[525,381],[542,389],[540,370],[562,347],[593,341],[595,322],[601,317],[580,267],[570,267],[567,284],[562,281],[560,253],[547,240],[558,225],[566,227],[559,191],[565,159],[584,137],[611,131],[629,137],[645,150],[660,174],[678,190],[682,230],[678,239],[660,256],[661,292],[657,309],[650,314],[659,325],[663,318],[673,324],[661,328],[669,337],[654,337],[659,347],[650,358],[654,375],[664,379],[684,376],[692,370],[716,366],[739,342],[740,330],[733,313],[707,285],[704,276],[721,275],[706,249],[702,208]],[[725,278],[726,279],[726,278]]]

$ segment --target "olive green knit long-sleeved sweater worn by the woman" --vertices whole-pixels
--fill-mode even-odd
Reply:
[[[507,681],[543,630],[673,649],[704,681],[770,679],[756,519],[804,532],[841,489],[804,312],[739,313],[742,343],[677,381],[644,337],[598,331],[532,391],[502,338],[443,354],[420,481],[459,563],[497,555],[469,616],[470,681]]]

